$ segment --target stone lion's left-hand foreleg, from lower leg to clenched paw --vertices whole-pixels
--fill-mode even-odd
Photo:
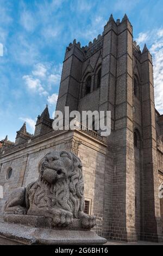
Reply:
[[[48,215],[52,217],[52,224],[55,227],[67,227],[73,221],[73,214],[59,207],[48,209]]]

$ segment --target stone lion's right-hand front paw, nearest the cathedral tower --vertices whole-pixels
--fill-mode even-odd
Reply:
[[[96,216],[87,215],[84,212],[79,212],[79,218],[82,222],[82,227],[85,229],[91,229],[96,225]]]

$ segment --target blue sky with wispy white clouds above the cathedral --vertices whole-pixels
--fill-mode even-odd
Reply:
[[[66,46],[85,46],[103,32],[112,13],[124,13],[134,39],[153,55],[156,108],[163,114],[162,0],[0,0],[0,139],[15,140],[23,122],[34,132],[48,103],[51,117],[59,90]]]

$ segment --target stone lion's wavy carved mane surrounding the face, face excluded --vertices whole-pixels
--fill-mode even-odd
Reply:
[[[61,209],[73,213],[74,218],[78,218],[78,213],[84,211],[84,181],[82,162],[72,152],[66,152],[73,161],[73,170],[68,178],[49,184],[43,181],[43,163],[48,154],[41,160],[40,176],[38,180],[29,184],[28,195],[26,197],[27,208],[30,204],[38,205],[39,201],[45,200],[45,206],[53,207],[57,205]],[[53,205],[52,205],[53,202]],[[39,207],[43,207],[40,205]]]

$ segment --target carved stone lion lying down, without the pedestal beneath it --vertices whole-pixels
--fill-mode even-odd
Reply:
[[[36,182],[9,196],[5,214],[50,217],[56,227],[66,227],[74,219],[79,219],[86,229],[96,225],[95,216],[84,213],[82,162],[75,154],[48,153],[39,163],[39,172]]]

